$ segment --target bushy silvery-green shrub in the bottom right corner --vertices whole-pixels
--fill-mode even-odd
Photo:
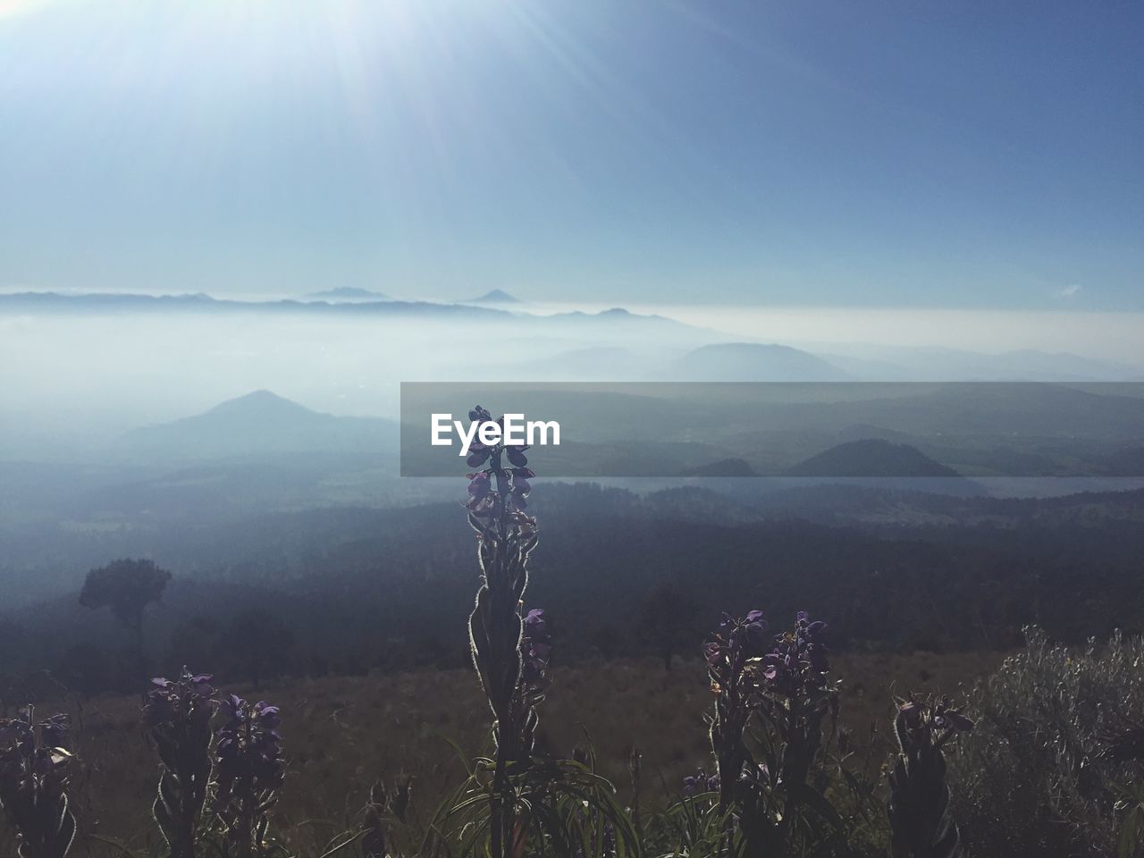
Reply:
[[[954,800],[983,855],[1138,856],[1144,782],[1144,641],[1083,649],[1026,629],[1026,644],[974,692]]]

